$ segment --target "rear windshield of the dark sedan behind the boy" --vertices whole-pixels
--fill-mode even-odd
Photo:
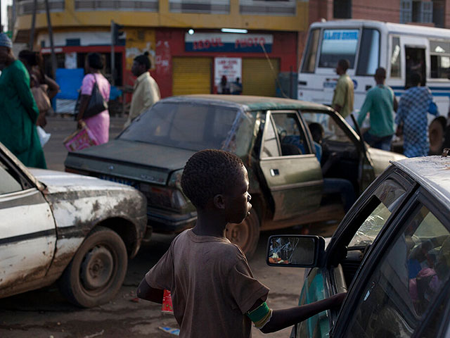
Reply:
[[[198,151],[223,149],[238,123],[238,109],[212,104],[159,103],[118,137],[135,142]]]

